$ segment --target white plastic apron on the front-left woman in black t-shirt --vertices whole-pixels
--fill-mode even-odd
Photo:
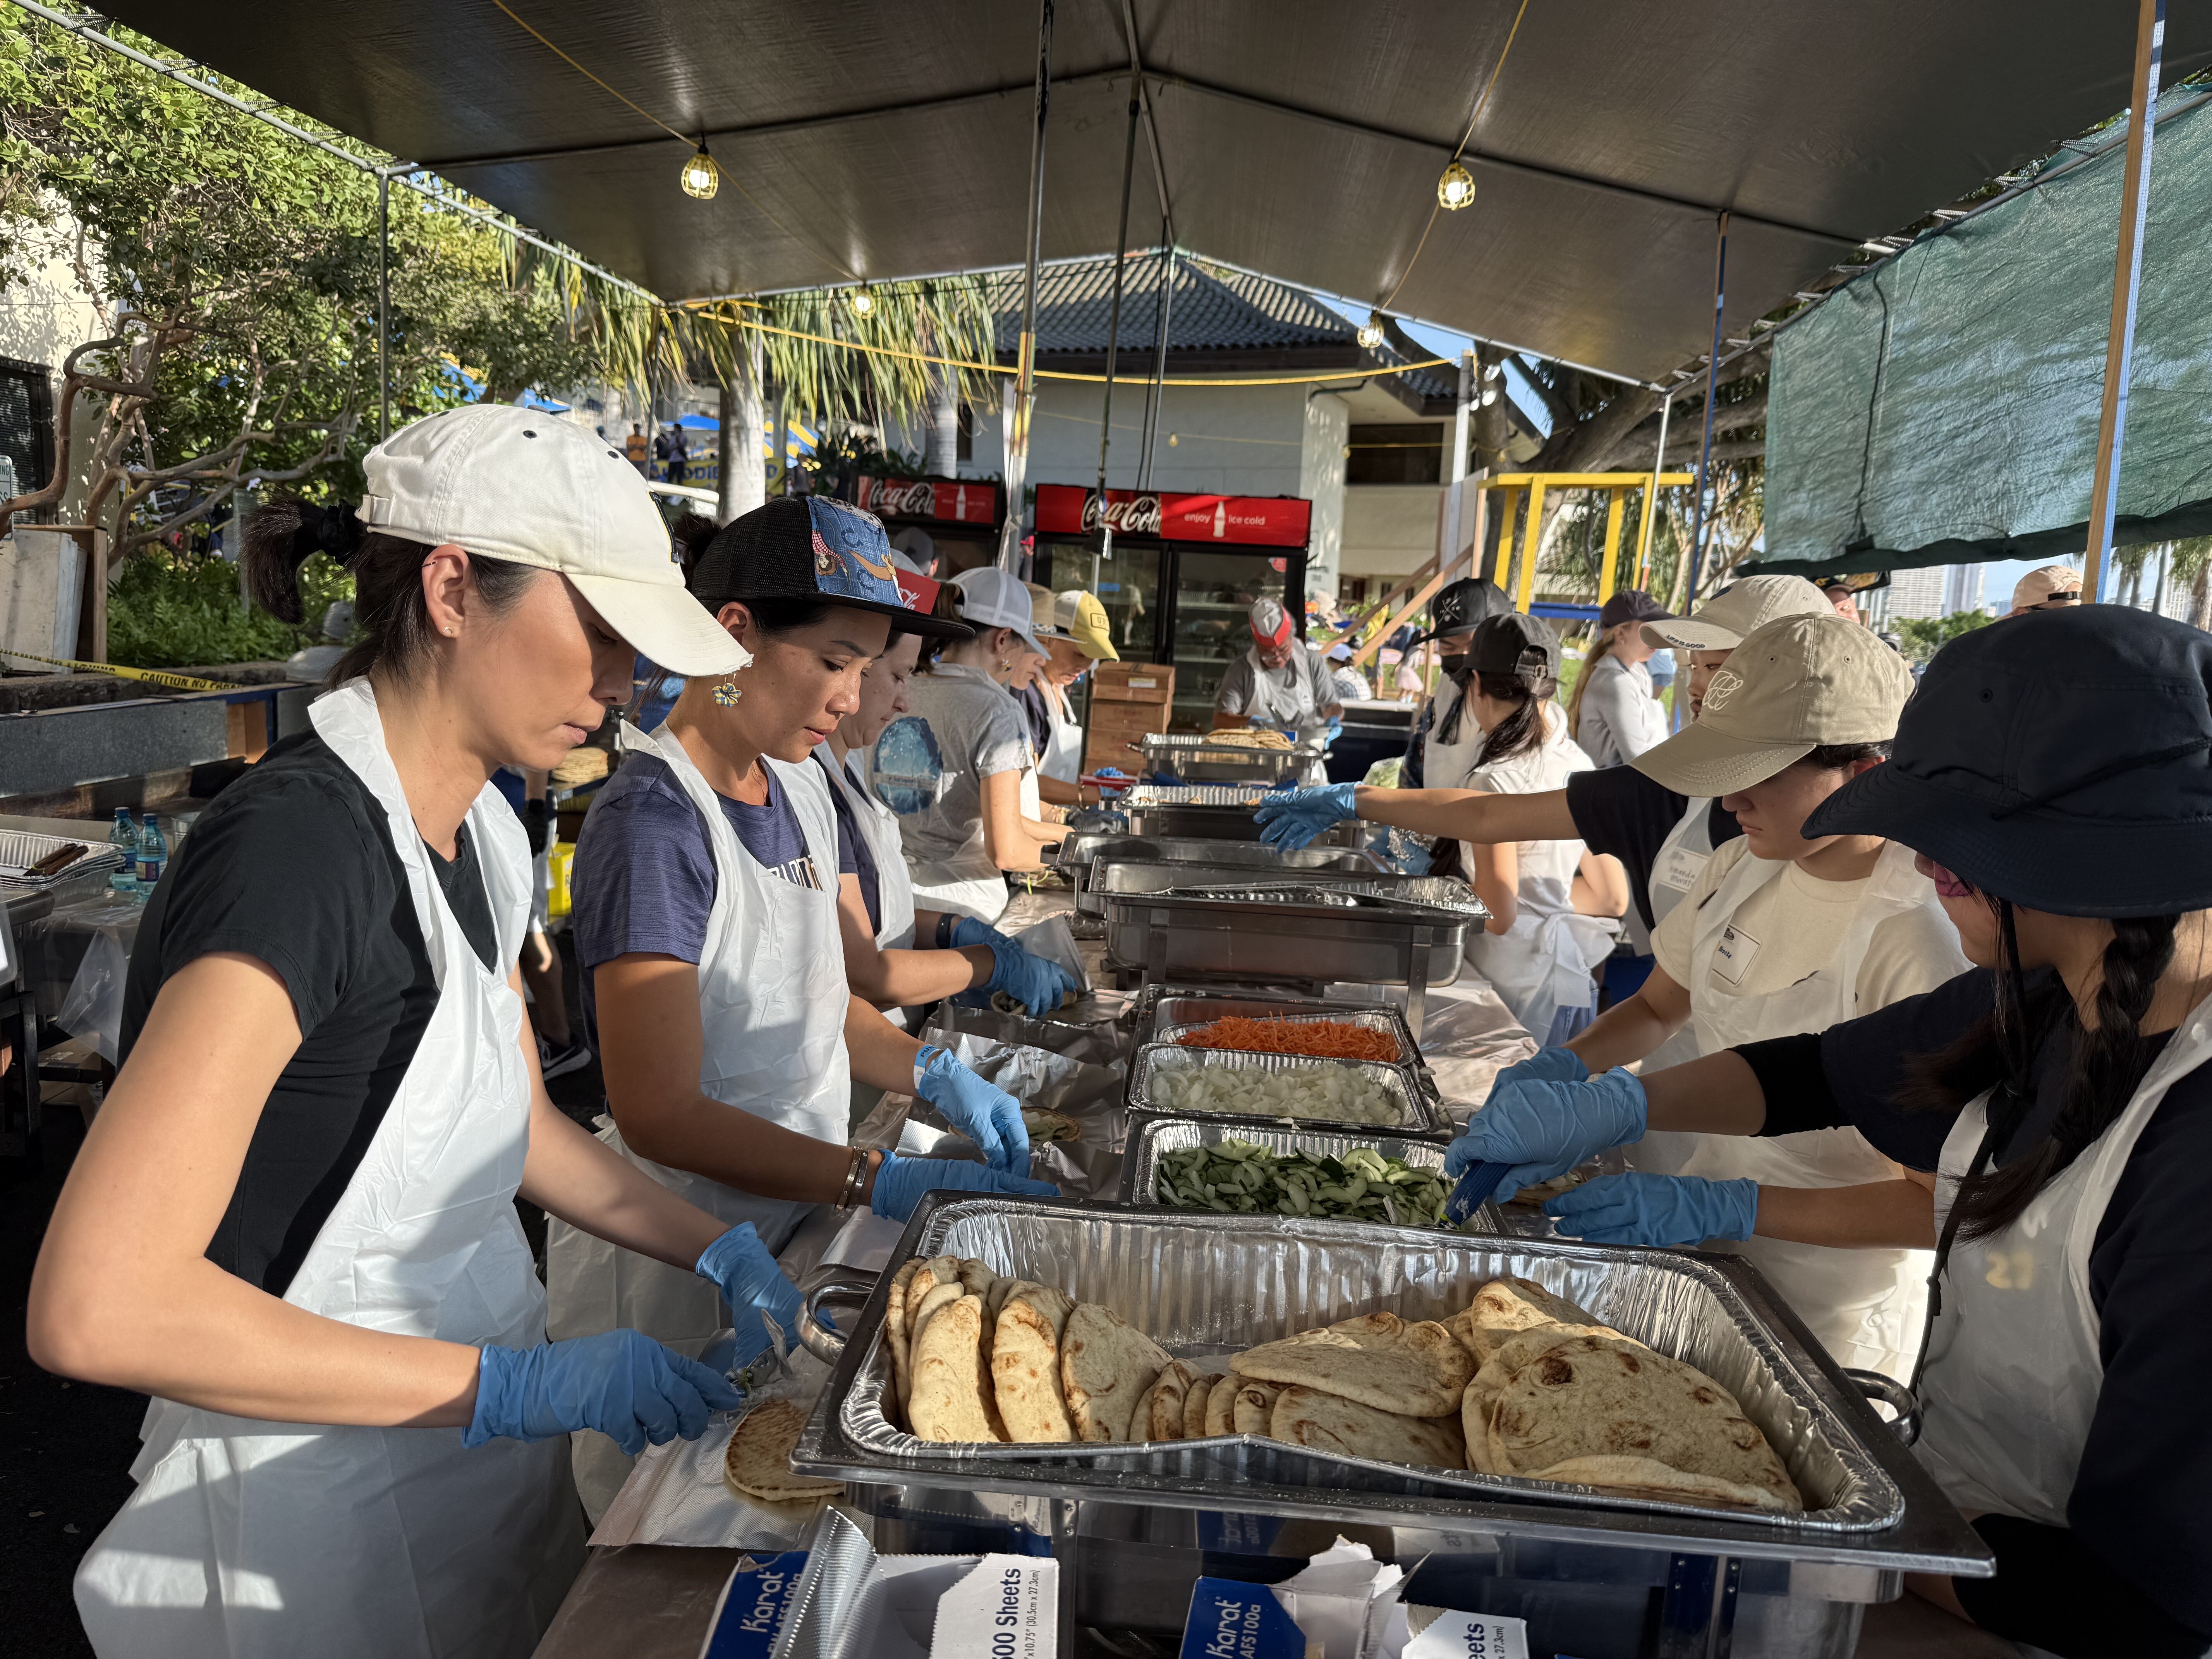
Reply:
[[[285,1301],[400,1336],[531,1347],[544,1294],[515,1221],[531,1088],[509,989],[529,922],[522,825],[498,790],[469,836],[498,927],[491,971],[453,920],[354,679],[307,717],[385,807],[438,975],[407,1075]],[[137,1491],[77,1568],[102,1659],[520,1659],[584,1562],[568,1447],[460,1429],[263,1422],[153,1400]]]

